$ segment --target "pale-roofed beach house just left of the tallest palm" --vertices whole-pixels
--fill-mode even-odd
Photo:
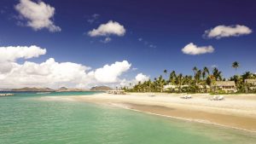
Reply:
[[[224,91],[225,93],[236,93],[235,81],[217,81],[212,84],[212,90],[214,92]]]

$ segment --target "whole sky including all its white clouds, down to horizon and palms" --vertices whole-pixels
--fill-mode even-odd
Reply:
[[[115,87],[194,66],[255,73],[255,11],[251,0],[1,0],[0,88]]]

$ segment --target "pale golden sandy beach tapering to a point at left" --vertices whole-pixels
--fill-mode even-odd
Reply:
[[[154,95],[154,96],[152,96]],[[212,95],[130,93],[127,95],[96,94],[84,96],[42,97],[48,101],[87,101],[110,104],[139,112],[217,124],[239,130],[256,132],[256,95],[224,95],[224,101],[210,101]]]

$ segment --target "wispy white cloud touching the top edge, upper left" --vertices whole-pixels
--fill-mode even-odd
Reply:
[[[31,0],[20,0],[15,5],[15,9],[27,21],[27,26],[32,27],[35,31],[43,28],[49,29],[49,32],[60,32],[61,27],[55,26],[52,18],[55,14],[55,8],[42,1],[34,3]]]

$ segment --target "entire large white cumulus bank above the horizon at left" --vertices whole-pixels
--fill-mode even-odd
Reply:
[[[122,82],[121,75],[131,67],[127,60],[116,61],[96,70],[78,63],[57,62],[53,58],[42,63],[28,60],[22,64],[16,62],[18,59],[30,59],[45,53],[46,49],[37,46],[0,47],[0,87],[90,88],[96,84],[113,85]]]

